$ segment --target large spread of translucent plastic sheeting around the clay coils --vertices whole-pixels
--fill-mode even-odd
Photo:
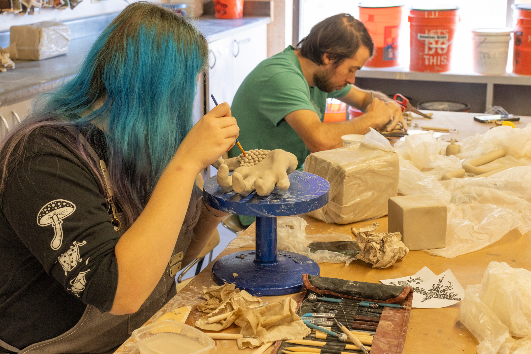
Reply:
[[[446,247],[425,251],[455,257],[490,245],[514,228],[521,234],[531,231],[531,166],[512,167],[487,178],[439,180],[444,171],[500,148],[507,150],[507,156],[493,163],[529,165],[531,125],[496,127],[457,144],[461,152],[456,156],[445,156],[448,143],[431,132],[409,135],[395,144],[400,161],[398,192],[434,195],[448,205]]]

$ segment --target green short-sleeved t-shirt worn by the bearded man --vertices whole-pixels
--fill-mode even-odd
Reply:
[[[289,151],[297,157],[297,168],[302,169],[310,151],[284,117],[299,109],[309,109],[322,121],[327,98],[345,96],[350,85],[330,93],[309,87],[293,50],[288,46],[258,64],[238,88],[230,109],[238,121],[238,140],[245,150]],[[229,157],[240,153],[235,145]]]

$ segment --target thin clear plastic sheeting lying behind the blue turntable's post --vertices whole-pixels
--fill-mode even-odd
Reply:
[[[343,263],[349,265],[356,259],[354,256],[347,256],[338,252],[330,252],[320,249],[317,252],[310,252],[307,247],[313,240],[306,237],[306,225],[308,223],[299,217],[284,217],[277,221],[277,249],[281,251],[296,252],[312,258],[317,263]],[[254,236],[239,236],[234,238],[227,245],[227,248],[255,247]],[[323,237],[333,237],[334,241],[352,241],[352,236],[348,235],[321,235]],[[311,236],[313,238],[314,236]],[[323,239],[323,237],[321,239]]]

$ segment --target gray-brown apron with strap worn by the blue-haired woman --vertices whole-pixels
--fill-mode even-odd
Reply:
[[[78,135],[74,129],[68,129],[72,134]],[[100,160],[96,151],[88,143],[83,135],[79,134],[79,139],[85,149],[93,159],[100,162],[104,174],[104,191],[107,191],[107,202],[113,211],[111,217],[113,225],[120,236],[126,231],[124,213],[116,213],[112,200],[113,192],[108,184],[108,172],[105,162]],[[85,312],[79,322],[67,332],[46,341],[32,344],[22,350],[10,346],[10,344],[0,340],[0,347],[18,352],[19,354],[81,354],[81,353],[112,353],[117,347],[125,342],[135,329],[141,327],[149,318],[155,314],[162,306],[176,295],[175,274],[181,270],[181,260],[184,252],[191,241],[191,235],[179,233],[177,243],[172,254],[172,258],[166,270],[160,278],[157,286],[149,297],[144,301],[140,309],[134,314],[111,315],[108,312],[101,313],[96,307],[87,305]]]

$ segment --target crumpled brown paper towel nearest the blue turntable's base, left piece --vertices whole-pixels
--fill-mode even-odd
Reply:
[[[234,285],[233,284],[226,284]],[[239,289],[236,288],[238,291]],[[234,323],[234,321],[241,316],[241,312],[236,311],[239,308],[253,308],[255,306],[262,305],[262,300],[258,297],[252,296],[249,292],[243,290],[243,291],[233,291],[232,293],[228,294],[225,301],[223,301],[219,307],[216,310],[213,310],[210,314],[207,316],[201,317],[196,322],[196,327],[199,327],[203,330],[209,330],[209,331],[221,331],[224,330],[230,325]],[[198,306],[199,308],[199,306]],[[226,314],[227,312],[230,313],[230,315],[227,317],[225,321],[215,322],[215,323],[201,323],[204,321],[208,321],[210,317]],[[199,323],[199,324],[198,324]]]

